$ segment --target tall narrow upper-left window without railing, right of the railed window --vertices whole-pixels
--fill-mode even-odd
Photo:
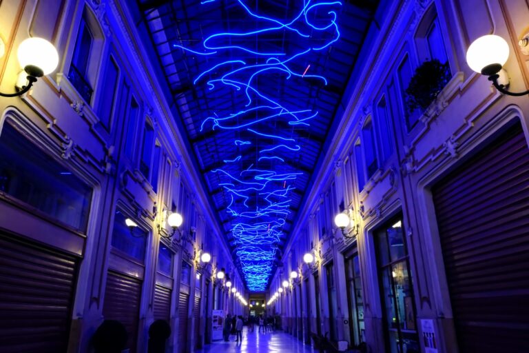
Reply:
[[[107,67],[105,68],[105,82],[101,87],[101,98],[99,105],[99,121],[107,129],[110,130],[112,116],[114,114],[114,106],[116,106],[116,96],[118,92],[119,69],[116,61],[110,56],[108,58]]]

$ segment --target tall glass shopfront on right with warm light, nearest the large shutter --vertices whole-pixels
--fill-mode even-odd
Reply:
[[[388,352],[419,352],[408,251],[402,219],[375,232]]]

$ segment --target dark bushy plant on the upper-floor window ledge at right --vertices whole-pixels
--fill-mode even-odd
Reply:
[[[408,112],[416,109],[426,110],[446,83],[450,81],[448,61],[441,63],[437,59],[424,61],[411,78],[406,88],[406,106]]]

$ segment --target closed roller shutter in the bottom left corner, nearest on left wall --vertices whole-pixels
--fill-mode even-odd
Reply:
[[[0,350],[65,352],[79,258],[0,234]]]

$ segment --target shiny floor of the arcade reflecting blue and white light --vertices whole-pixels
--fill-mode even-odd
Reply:
[[[231,336],[233,339],[234,336]],[[242,331],[242,342],[235,341],[215,341],[210,345],[206,345],[203,350],[195,351],[196,353],[313,353],[309,345],[304,345],[298,339],[286,334],[282,331],[267,332],[260,334],[256,332],[248,332],[245,327]]]

